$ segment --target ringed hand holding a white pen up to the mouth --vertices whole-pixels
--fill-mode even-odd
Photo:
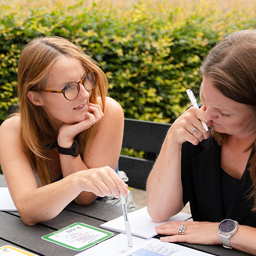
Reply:
[[[189,108],[175,120],[170,127],[167,136],[179,145],[185,141],[197,145],[203,139],[209,138],[209,133],[205,131],[201,122],[201,120],[206,122],[204,119],[204,112],[204,106],[202,106],[201,109],[195,107]],[[207,125],[210,126],[211,121],[208,121]],[[193,131],[195,127],[197,128],[197,131],[194,134],[191,134],[191,131]]]

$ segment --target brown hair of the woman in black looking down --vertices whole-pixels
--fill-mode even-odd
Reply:
[[[226,36],[203,61],[201,72],[227,98],[246,104],[252,110],[256,135],[256,30],[242,30]],[[227,135],[212,131],[219,145]],[[256,139],[249,160],[252,187],[248,198],[256,211]],[[249,148],[248,148],[249,150]]]

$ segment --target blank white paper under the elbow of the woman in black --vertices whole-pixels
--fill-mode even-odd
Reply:
[[[134,236],[142,238],[152,238],[157,235],[155,227],[168,221],[186,221],[191,218],[189,214],[179,213],[169,220],[161,223],[154,222],[147,212],[147,207],[143,207],[139,210],[130,212],[128,214],[131,231]],[[120,216],[112,221],[108,221],[100,225],[102,228],[110,229],[120,233],[125,233],[124,219]]]

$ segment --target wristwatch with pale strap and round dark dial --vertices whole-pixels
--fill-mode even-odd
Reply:
[[[238,222],[230,219],[223,220],[220,222],[219,226],[219,236],[223,247],[232,249],[230,246],[229,239],[235,234],[238,230]]]

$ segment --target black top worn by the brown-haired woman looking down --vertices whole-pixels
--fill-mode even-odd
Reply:
[[[221,147],[215,139],[210,137],[196,146],[183,143],[181,179],[183,203],[190,202],[194,221],[232,219],[239,224],[256,227],[256,213],[251,211],[252,201],[246,198],[252,185],[248,164],[241,180],[235,179],[234,186],[230,186],[223,176]],[[229,193],[230,189],[233,195]]]

